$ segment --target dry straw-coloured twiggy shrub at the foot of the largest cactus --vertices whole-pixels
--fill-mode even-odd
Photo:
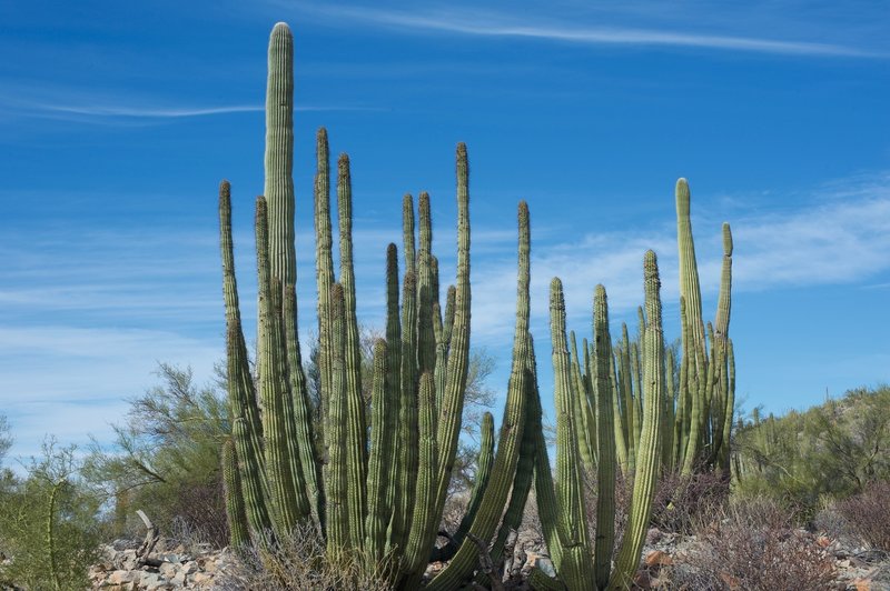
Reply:
[[[218,579],[217,589],[384,591],[390,589],[387,572],[386,559],[373,563],[360,550],[332,559],[318,530],[305,524],[286,538],[244,549],[238,565]]]

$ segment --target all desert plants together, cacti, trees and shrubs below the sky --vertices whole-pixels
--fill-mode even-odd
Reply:
[[[233,217],[243,212],[222,181],[227,357],[216,381],[199,385],[189,370],[161,364],[161,383],[130,401],[112,448],[78,453],[48,441],[19,473],[0,464],[0,585],[89,587],[101,541],[145,534],[137,510],[185,547],[228,548],[237,567],[217,583],[230,589],[832,589],[835,540],[886,560],[890,390],[852,390],[784,417],[740,415],[732,233],[722,227],[709,322],[685,179],[674,189],[680,341],[665,343],[653,251],[641,253],[639,324],[620,335],[610,332],[604,286],[591,287],[591,323],[576,335],[554,278],[553,392],[541,391],[530,329],[532,212],[517,204],[516,320],[495,430],[491,359],[471,349],[468,148],[457,144],[455,158],[454,284],[444,288],[432,250],[429,196],[406,194],[400,248],[380,253],[386,321],[373,331],[356,314],[349,158],[339,157],[332,191],[320,129],[317,340],[301,348],[293,72],[293,38],[279,23],[254,212],[256,352],[237,287],[247,271],[235,269]],[[551,397],[547,431],[542,400]],[[9,437],[0,417],[0,461]],[[644,547],[665,534],[694,543],[650,560]],[[507,565],[522,535],[545,557],[531,569]]]

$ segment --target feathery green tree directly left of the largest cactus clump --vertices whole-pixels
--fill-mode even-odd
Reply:
[[[225,545],[219,457],[229,433],[225,377],[198,388],[190,369],[161,363],[158,374],[160,385],[130,400],[126,423],[115,425],[111,451],[93,444],[87,474],[115,499],[118,533],[136,527],[135,511],[145,509],[162,531],[185,528]]]

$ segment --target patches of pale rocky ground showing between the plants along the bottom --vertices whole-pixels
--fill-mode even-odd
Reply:
[[[819,552],[834,561],[835,583],[831,589],[881,591],[890,590],[890,555],[886,552],[859,547],[850,540],[830,539],[825,535],[798,530]],[[103,560],[90,568],[93,589],[107,591],[171,590],[171,589],[237,589],[227,578],[237,569],[237,559],[228,550],[214,551],[200,545],[161,540],[149,555],[156,565],[139,565],[138,541],[116,540],[102,547]],[[695,589],[682,580],[693,580],[689,569],[690,557],[702,552],[702,542],[694,535],[681,537],[656,529],[650,530],[643,551],[645,567],[637,575],[640,589]],[[429,574],[443,568],[434,563]],[[504,564],[510,577],[507,589],[527,589],[525,577],[537,567],[552,571],[550,559],[535,535],[520,535],[514,548],[514,560]],[[742,589],[725,579],[726,588]],[[805,591],[795,589],[794,591]]]

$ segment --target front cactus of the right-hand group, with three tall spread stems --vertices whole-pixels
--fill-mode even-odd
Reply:
[[[640,551],[645,539],[655,481],[661,462],[661,423],[664,413],[664,338],[662,333],[660,280],[655,253],[644,258],[645,320],[642,364],[642,412],[637,413],[641,437],[637,443],[635,471],[633,474],[632,501],[627,527],[622,538],[614,568],[611,558],[614,549],[615,473],[617,469],[615,440],[623,435],[615,429],[620,420],[613,403],[615,388],[611,340],[609,337],[609,311],[606,293],[597,286],[594,293],[594,355],[597,454],[597,503],[596,532],[591,538],[584,510],[584,462],[578,445],[576,415],[577,404],[573,398],[584,397],[572,379],[573,368],[566,350],[565,303],[562,282],[551,283],[551,339],[553,342],[554,397],[556,402],[556,481],[550,471],[543,433],[537,435],[535,490],[547,549],[553,558],[558,580],[548,580],[535,572],[532,584],[536,589],[556,589],[563,585],[570,591],[587,589],[626,589],[640,562]],[[632,435],[633,430],[629,430]],[[591,541],[595,540],[595,544]]]

